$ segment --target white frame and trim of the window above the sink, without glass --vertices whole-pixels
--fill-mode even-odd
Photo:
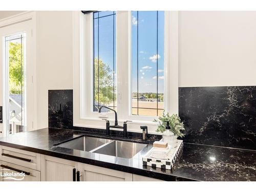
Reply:
[[[105,121],[93,108],[92,77],[92,15],[73,11],[73,101],[74,126],[105,129]],[[117,11],[117,102],[118,121],[132,120],[127,130],[141,132],[140,125],[148,125],[148,132],[156,134],[156,117],[135,116],[131,114],[131,12]],[[90,35],[82,35],[87,33]],[[164,63],[164,108],[169,113],[178,113],[178,11],[165,11],[165,63]],[[119,39],[122,39],[121,41]],[[126,40],[123,40],[126,39]],[[86,42],[86,43],[84,43]],[[170,49],[172,47],[172,49]],[[81,50],[86,50],[82,54]],[[129,53],[129,54],[127,54]],[[172,63],[172,65],[170,65]],[[129,71],[129,73],[127,73]],[[126,72],[126,73],[123,73]],[[120,75],[121,74],[121,75]],[[166,97],[169,95],[169,97]],[[82,97],[83,96],[83,97]],[[86,97],[84,97],[86,96]],[[122,102],[122,101],[129,102]],[[90,109],[90,110],[89,110]],[[108,114],[113,122],[114,116]]]

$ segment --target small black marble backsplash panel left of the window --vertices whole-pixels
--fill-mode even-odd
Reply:
[[[73,90],[48,91],[48,126],[65,129],[73,126]]]

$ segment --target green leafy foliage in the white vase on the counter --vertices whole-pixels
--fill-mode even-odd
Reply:
[[[158,123],[156,132],[163,133],[165,131],[166,121],[169,121],[170,131],[174,133],[177,137],[184,137],[182,131],[185,130],[183,122],[177,114],[169,115],[163,111],[163,115],[158,119],[154,119],[154,122]]]

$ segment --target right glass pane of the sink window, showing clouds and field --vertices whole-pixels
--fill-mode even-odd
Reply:
[[[164,88],[164,11],[132,11],[132,114],[160,116]]]

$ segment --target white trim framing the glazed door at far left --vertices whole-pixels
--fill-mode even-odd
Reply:
[[[27,102],[27,117],[29,116],[29,121],[27,121],[27,130],[26,131],[33,131],[36,129],[36,125],[37,125],[37,116],[36,116],[36,112],[37,112],[37,102],[36,102],[36,12],[35,11],[26,11],[23,13],[19,13],[7,18],[3,18],[0,19],[0,28],[3,27],[7,27],[10,25],[15,25],[21,22],[25,22],[26,20],[32,20],[32,48],[31,48],[31,59],[32,59],[32,71],[30,73],[30,76],[32,76],[31,79],[28,79],[27,82],[31,82],[29,85],[30,90],[32,90],[31,92],[27,92],[27,95],[30,95],[30,102]],[[3,62],[4,63],[4,62]],[[2,66],[2,70],[3,70],[3,76],[5,73],[4,70],[4,66]],[[1,68],[0,68],[1,71]],[[27,84],[28,86],[28,84]],[[5,106],[5,80],[3,79],[3,101],[0,100],[0,103],[3,102],[3,110],[6,110],[6,106]],[[0,90],[1,91],[1,90]],[[1,97],[0,97],[1,99]],[[29,106],[28,106],[29,105]],[[3,113],[3,120],[5,120],[6,117],[6,113]],[[29,123],[29,124],[28,124]],[[5,123],[3,123],[3,125],[5,125]],[[1,127],[0,127],[1,128]],[[8,133],[6,132],[7,129],[4,126],[3,127],[3,131],[4,131],[4,136],[8,135]]]

